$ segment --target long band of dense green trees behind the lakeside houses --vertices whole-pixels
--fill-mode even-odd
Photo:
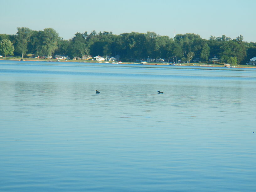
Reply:
[[[115,56],[123,61],[145,58],[163,58],[169,62],[208,61],[214,56],[221,63],[240,64],[256,56],[256,43],[243,41],[239,35],[231,39],[226,35],[211,36],[208,40],[196,34],[175,35],[174,38],[157,35],[155,32],[122,33],[92,31],[76,33],[72,39],[63,40],[56,30],[41,31],[18,27],[15,35],[0,34],[0,53],[3,55],[26,54],[38,56],[65,55],[70,58],[82,55]]]

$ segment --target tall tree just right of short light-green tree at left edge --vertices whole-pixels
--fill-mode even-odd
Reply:
[[[15,50],[21,54],[21,57],[23,58],[23,55],[26,54],[28,51],[28,41],[30,36],[32,35],[32,30],[27,27],[18,27],[17,35],[15,36],[16,40],[16,48]]]

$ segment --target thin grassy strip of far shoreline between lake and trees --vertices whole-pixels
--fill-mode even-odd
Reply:
[[[86,61],[83,61],[83,60],[54,60],[54,61],[50,61],[50,60],[36,60],[36,59],[0,59],[1,61],[46,61],[46,62],[74,62],[74,63],[102,63],[104,64],[104,62],[87,62],[88,60]],[[108,62],[106,64],[112,64],[111,62]],[[114,63],[115,64],[115,63]],[[163,63],[147,63],[147,64],[141,64],[141,63],[133,63],[133,62],[122,62],[122,63],[117,63],[117,64],[130,64],[130,65],[166,65],[166,66],[186,66],[186,67],[224,67],[223,66],[213,66],[211,64],[208,64],[208,65],[198,65],[198,64],[188,64],[186,63],[187,65],[169,65],[169,64],[163,64]],[[237,66],[237,67],[230,67],[230,68],[256,68],[253,67],[253,66]]]

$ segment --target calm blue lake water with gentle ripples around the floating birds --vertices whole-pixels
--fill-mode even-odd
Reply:
[[[256,69],[0,61],[0,191],[255,191],[255,95]]]

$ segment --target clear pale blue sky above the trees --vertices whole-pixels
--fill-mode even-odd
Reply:
[[[0,5],[0,34],[51,27],[63,39],[95,30],[153,31],[171,38],[195,33],[204,39],[241,34],[256,42],[256,0],[0,0]]]

